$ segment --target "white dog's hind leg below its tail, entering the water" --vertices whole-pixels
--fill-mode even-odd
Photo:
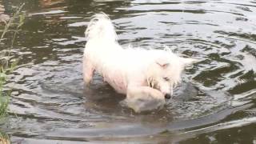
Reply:
[[[85,82],[86,86],[90,85],[90,81],[92,80],[94,76],[94,66],[90,62],[90,59],[86,58],[85,56],[83,57],[83,80]]]

